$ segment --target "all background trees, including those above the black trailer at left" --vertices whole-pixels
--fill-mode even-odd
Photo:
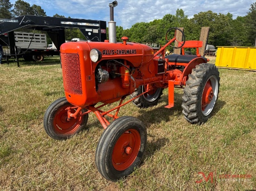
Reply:
[[[14,5],[9,0],[0,0],[0,18],[11,19],[25,14],[47,16],[41,6],[30,6],[23,0],[17,0]],[[65,18],[65,16],[58,14],[53,16]],[[189,19],[182,9],[177,9],[175,15],[166,14],[162,19],[155,19],[148,23],[136,23],[129,29],[116,26],[116,36],[117,41],[121,41],[121,37],[126,36],[131,42],[164,45],[166,43],[165,33],[169,28],[183,27],[186,40],[198,40],[202,26],[210,27],[208,38],[210,45],[255,46],[256,2],[249,7],[246,16],[239,16],[236,19],[233,19],[231,13],[222,14],[212,11],[200,12]],[[67,29],[65,36],[66,40],[84,38],[79,29]]]

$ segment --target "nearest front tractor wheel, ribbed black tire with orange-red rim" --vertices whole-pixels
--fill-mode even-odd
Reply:
[[[101,175],[113,182],[132,173],[141,163],[147,143],[147,130],[135,117],[113,121],[101,135],[95,163]]]

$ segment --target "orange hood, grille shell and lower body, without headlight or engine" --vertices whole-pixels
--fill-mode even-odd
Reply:
[[[101,60],[94,63],[90,51],[101,52]],[[109,79],[96,90],[95,69],[102,60],[126,60],[130,67],[147,64],[154,57],[154,51],[147,45],[139,43],[108,42],[68,42],[61,45],[61,65],[63,86],[67,101],[80,107],[98,102],[115,102],[124,95],[134,91],[131,87],[122,88],[119,78]],[[121,78],[120,78],[121,81]],[[111,94],[109,94],[111,92]]]

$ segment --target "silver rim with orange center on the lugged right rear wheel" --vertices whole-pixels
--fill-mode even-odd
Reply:
[[[216,76],[210,76],[205,83],[202,93],[202,114],[207,116],[211,113],[217,100],[218,94],[218,80]]]

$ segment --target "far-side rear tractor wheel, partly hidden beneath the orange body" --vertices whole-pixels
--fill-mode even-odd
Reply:
[[[139,96],[144,91],[145,91],[145,88],[144,88],[144,85],[142,85],[139,88],[137,88],[135,92],[130,95],[130,97],[134,98],[136,96]],[[157,88],[155,90],[152,90],[147,94],[137,97],[135,100],[133,100],[133,103],[138,108],[148,108],[151,106],[155,106],[157,105],[159,99],[162,96],[162,91],[163,91],[163,88]]]

